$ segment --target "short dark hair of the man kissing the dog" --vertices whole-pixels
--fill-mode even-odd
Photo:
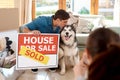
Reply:
[[[69,19],[70,16],[69,16],[69,13],[66,12],[65,10],[59,9],[56,11],[55,15],[53,16],[54,20],[56,20],[57,18],[59,18],[60,20],[66,20],[66,19]]]

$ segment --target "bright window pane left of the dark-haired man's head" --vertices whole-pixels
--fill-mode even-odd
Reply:
[[[36,0],[36,17],[54,14],[58,10],[58,0]]]

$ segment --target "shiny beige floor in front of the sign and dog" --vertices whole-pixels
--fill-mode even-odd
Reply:
[[[38,73],[33,73],[31,70],[26,71],[17,80],[74,80],[73,70],[67,70],[65,75],[60,75],[59,71],[50,72],[49,70],[39,69]]]

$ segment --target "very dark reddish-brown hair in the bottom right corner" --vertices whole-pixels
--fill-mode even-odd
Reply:
[[[120,80],[120,45],[112,44],[94,58],[88,80]]]

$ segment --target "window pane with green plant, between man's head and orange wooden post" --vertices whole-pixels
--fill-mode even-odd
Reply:
[[[66,9],[78,14],[90,14],[91,0],[67,0]]]

